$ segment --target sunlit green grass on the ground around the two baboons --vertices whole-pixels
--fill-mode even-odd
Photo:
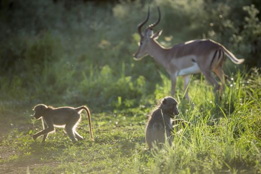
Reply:
[[[155,96],[165,96],[169,80],[161,75]],[[181,80],[181,79],[180,79]],[[181,81],[178,81],[178,87]],[[79,126],[85,139],[72,144],[57,128],[45,144],[33,141],[41,129],[31,120],[31,105],[1,103],[1,173],[258,173],[261,172],[261,77],[257,70],[238,72],[225,87],[220,105],[215,105],[212,87],[205,81],[190,82],[189,94],[195,107],[178,91],[180,118],[192,123],[174,133],[173,147],[148,151],[145,144],[147,105],[93,110],[94,141],[90,140],[87,117]],[[12,101],[10,101],[12,102]],[[151,103],[151,104],[148,104]],[[17,119],[19,116],[19,119]]]

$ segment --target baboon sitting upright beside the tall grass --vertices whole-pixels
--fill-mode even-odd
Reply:
[[[166,138],[169,145],[172,145],[172,118],[178,114],[177,102],[171,96],[163,98],[157,108],[152,111],[149,116],[145,133],[146,143],[149,146],[149,149],[153,147],[153,144],[161,146],[160,144],[165,143]]]

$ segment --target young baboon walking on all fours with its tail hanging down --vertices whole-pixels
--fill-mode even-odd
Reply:
[[[34,106],[34,117],[36,119],[42,118],[43,129],[33,135],[35,140],[39,136],[43,135],[42,142],[45,141],[50,132],[55,131],[55,127],[64,127],[64,131],[68,134],[70,139],[75,142],[77,140],[83,140],[83,137],[76,131],[77,125],[81,121],[81,112],[85,110],[88,115],[89,122],[89,134],[93,140],[90,112],[86,106],[74,107],[57,107],[46,106],[45,104],[38,104]]]

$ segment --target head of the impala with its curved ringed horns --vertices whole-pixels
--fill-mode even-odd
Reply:
[[[150,24],[145,29],[144,32],[141,31],[141,28],[150,18],[150,8],[148,9],[147,18],[138,25],[138,32],[139,32],[139,35],[140,35],[140,42],[138,43],[139,48],[136,51],[136,53],[134,54],[134,59],[135,60],[141,60],[144,56],[146,56],[149,53],[150,44],[155,39],[158,39],[158,37],[162,33],[162,30],[160,30],[160,31],[158,31],[156,33],[153,33],[153,27],[158,25],[160,23],[160,20],[161,20],[161,11],[160,11],[159,7],[158,7],[158,11],[159,11],[159,19],[158,19],[158,21],[153,23],[153,24]]]

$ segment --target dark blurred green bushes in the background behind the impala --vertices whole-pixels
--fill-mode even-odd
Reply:
[[[150,56],[132,56],[148,6],[148,24],[161,9],[162,45],[213,39],[247,69],[261,67],[260,0],[0,0],[0,107],[103,110],[162,97],[167,72]],[[227,74],[235,68],[226,61]]]

